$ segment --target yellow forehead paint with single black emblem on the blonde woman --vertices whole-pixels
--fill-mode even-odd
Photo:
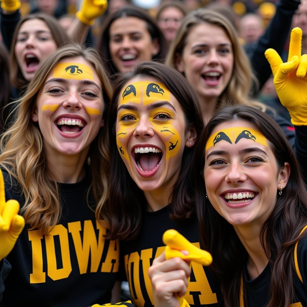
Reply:
[[[93,70],[87,65],[79,63],[56,64],[52,77],[77,80],[89,79],[94,81]]]

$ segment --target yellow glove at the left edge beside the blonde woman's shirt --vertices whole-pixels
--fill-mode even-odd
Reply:
[[[18,211],[19,203],[17,200],[5,201],[4,180],[0,170],[0,260],[13,249],[25,226],[25,220],[18,215]]]

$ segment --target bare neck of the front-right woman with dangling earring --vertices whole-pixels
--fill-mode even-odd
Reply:
[[[261,227],[262,224],[258,223],[234,226],[240,241],[248,253],[247,272],[251,280],[259,276],[269,262],[260,242]]]

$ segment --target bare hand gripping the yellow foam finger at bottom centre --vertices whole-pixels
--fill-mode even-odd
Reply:
[[[185,300],[179,302],[188,286],[191,274],[188,263],[180,258],[165,259],[165,252],[154,259],[148,271],[152,287],[155,307],[186,306]],[[188,305],[187,305],[188,306]]]

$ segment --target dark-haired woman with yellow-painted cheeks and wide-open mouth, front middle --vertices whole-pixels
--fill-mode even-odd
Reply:
[[[165,230],[174,228],[200,246],[191,168],[202,127],[196,96],[172,68],[145,62],[115,85],[110,202],[103,209],[111,225],[107,238],[122,240],[121,263],[136,306],[154,305],[148,269],[165,248]],[[212,275],[199,263],[191,265],[186,301],[217,306]]]

